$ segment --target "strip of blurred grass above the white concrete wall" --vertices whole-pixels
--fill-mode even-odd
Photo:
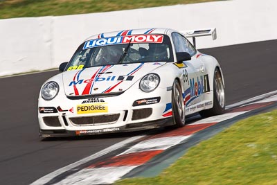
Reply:
[[[0,19],[73,15],[219,0],[0,0]]]

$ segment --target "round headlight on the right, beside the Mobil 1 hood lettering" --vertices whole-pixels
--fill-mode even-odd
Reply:
[[[160,82],[159,75],[155,73],[150,73],[141,79],[141,82],[139,82],[139,87],[141,88],[142,91],[150,92],[150,91],[154,91],[154,89],[158,87],[159,82]]]

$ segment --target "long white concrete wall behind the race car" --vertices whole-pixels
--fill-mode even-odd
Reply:
[[[233,0],[0,20],[0,76],[58,67],[90,35],[133,28],[217,28],[197,49],[277,39],[276,0]]]

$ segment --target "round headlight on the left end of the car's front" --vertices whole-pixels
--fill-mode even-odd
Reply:
[[[57,96],[57,93],[59,92],[59,85],[57,85],[57,82],[47,82],[43,87],[42,87],[42,98],[44,100],[52,100]]]

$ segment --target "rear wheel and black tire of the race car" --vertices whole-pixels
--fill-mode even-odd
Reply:
[[[202,110],[199,114],[203,117],[223,114],[225,111],[225,93],[220,69],[216,68],[213,77],[213,108]]]

